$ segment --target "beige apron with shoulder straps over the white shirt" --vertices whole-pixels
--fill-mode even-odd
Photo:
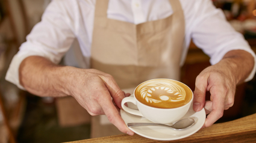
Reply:
[[[134,25],[108,19],[108,1],[97,0],[91,68],[112,75],[121,89],[155,78],[179,80],[184,15],[180,1],[169,2],[171,16]]]

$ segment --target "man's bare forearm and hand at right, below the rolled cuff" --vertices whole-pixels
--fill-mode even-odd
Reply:
[[[234,105],[236,85],[245,81],[254,67],[254,58],[244,50],[232,50],[223,59],[205,68],[196,78],[193,109],[205,108],[209,114],[204,127],[219,120],[223,111]],[[205,102],[205,93],[210,91],[210,101]]]

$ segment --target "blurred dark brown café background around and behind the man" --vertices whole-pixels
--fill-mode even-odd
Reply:
[[[51,0],[0,0],[0,143],[67,142],[108,136],[99,132],[101,126],[96,124],[96,121],[101,119],[91,117],[74,99],[33,96],[4,79],[11,58],[25,41],[25,36],[40,21],[49,2]],[[256,51],[256,1],[213,2],[217,8],[223,10],[229,23],[245,36],[252,49]],[[70,64],[65,58],[72,55],[72,49],[77,46],[77,41],[74,41],[62,64]],[[209,59],[192,41],[182,68],[181,82],[194,90],[196,76],[210,65]],[[209,93],[207,100],[210,100]],[[76,108],[77,112],[70,111],[70,108]],[[225,111],[217,123],[255,113],[254,78],[237,87],[234,106]],[[108,126],[109,132],[116,132],[113,126]]]

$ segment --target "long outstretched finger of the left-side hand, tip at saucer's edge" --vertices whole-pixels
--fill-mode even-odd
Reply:
[[[111,101],[110,94],[105,91],[105,94],[109,95],[109,98],[107,96],[104,96],[105,98],[101,98],[98,100],[99,105],[101,105],[103,111],[105,112],[105,115],[107,116],[110,123],[114,124],[114,126],[117,127],[121,132],[127,133],[128,135],[134,135],[133,131],[131,131],[123,121],[123,119],[120,117],[117,109],[113,105]]]

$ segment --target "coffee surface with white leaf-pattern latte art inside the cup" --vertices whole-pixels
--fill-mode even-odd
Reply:
[[[140,84],[135,92],[136,99],[154,108],[178,108],[192,99],[193,93],[187,85],[170,79],[154,79]]]

